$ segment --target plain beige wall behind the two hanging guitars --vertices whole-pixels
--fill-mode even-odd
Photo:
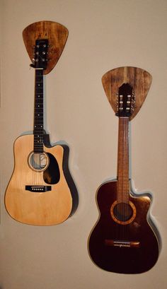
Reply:
[[[166,289],[166,0],[2,0],[1,4],[1,225],[2,289]],[[13,141],[33,129],[34,71],[23,29],[53,20],[69,29],[57,66],[47,76],[47,130],[69,143],[69,167],[79,208],[62,225],[40,228],[8,216],[4,192],[13,170]],[[87,239],[98,218],[99,184],[116,175],[117,118],[101,84],[118,66],[146,69],[153,83],[132,121],[132,178],[154,193],[163,249],[151,271],[125,276],[96,267]]]

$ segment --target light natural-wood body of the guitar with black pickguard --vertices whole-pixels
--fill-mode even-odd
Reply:
[[[44,152],[49,164],[46,170],[40,172],[30,167],[28,159],[32,152],[33,135],[16,139],[15,166],[5,196],[6,210],[12,218],[21,223],[62,223],[69,217],[72,208],[71,191],[64,172],[64,147],[45,146],[44,143]]]

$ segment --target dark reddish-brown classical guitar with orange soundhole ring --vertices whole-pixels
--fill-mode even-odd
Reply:
[[[159,233],[149,216],[151,195],[134,193],[129,181],[128,126],[134,112],[134,93],[129,83],[118,88],[117,180],[98,189],[100,216],[88,241],[93,262],[115,273],[148,271],[159,257]]]

